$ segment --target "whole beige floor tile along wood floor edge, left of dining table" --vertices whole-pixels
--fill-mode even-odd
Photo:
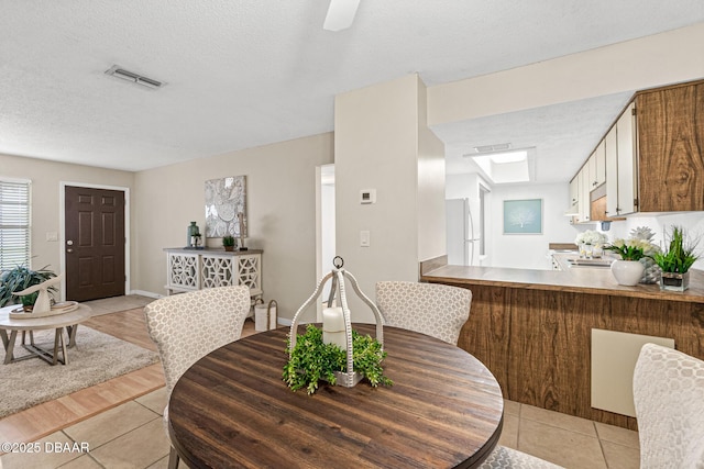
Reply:
[[[125,402],[114,409],[102,412],[86,421],[79,422],[64,429],[74,442],[88,442],[90,450],[162,417],[147,407],[134,401]]]

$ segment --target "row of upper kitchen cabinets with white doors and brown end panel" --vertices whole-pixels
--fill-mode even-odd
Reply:
[[[638,91],[575,179],[578,223],[704,211],[704,80]]]

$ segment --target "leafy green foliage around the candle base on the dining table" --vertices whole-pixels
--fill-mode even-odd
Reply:
[[[382,360],[386,358],[378,340],[370,335],[352,331],[354,371],[366,378],[370,384],[392,386],[393,381],[384,376]],[[290,351],[290,340],[286,354]],[[337,382],[336,371],[346,371],[346,353],[334,344],[322,342],[322,330],[308,324],[306,333],[296,339],[290,359],[284,367],[284,381],[294,391],[306,388],[308,394],[318,389],[318,381],[330,384]]]

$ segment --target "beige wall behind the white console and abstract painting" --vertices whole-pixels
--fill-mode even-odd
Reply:
[[[188,222],[205,227],[204,183],[246,176],[249,237],[264,249],[263,289],[293,317],[316,276],[316,167],[332,163],[331,133],[232,152],[136,174],[133,208],[139,289],[164,293],[165,247],[184,245]],[[202,230],[201,230],[202,231]],[[314,311],[315,317],[315,311]]]

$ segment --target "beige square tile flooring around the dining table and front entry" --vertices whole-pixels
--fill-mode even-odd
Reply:
[[[121,311],[143,305],[143,299],[109,299],[92,308]],[[37,454],[3,455],[2,467],[166,468],[169,444],[162,423],[165,403],[166,393],[161,388],[40,439]],[[74,443],[78,447],[87,444],[89,451],[61,450]],[[639,467],[636,432],[512,401],[506,401],[499,444],[565,468]]]

